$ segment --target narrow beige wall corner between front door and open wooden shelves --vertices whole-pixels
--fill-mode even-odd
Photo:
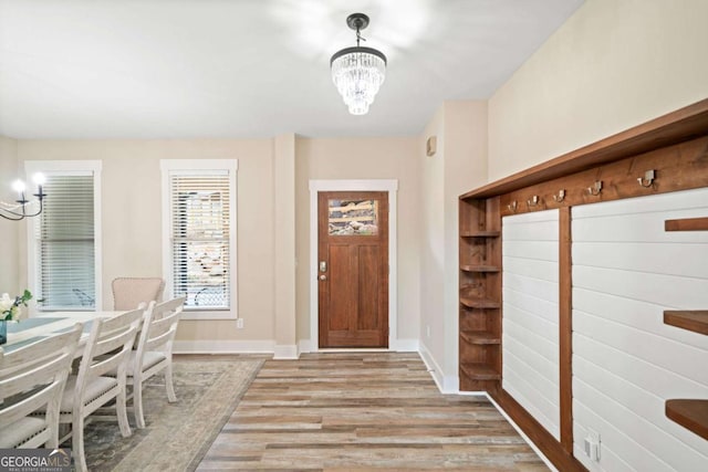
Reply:
[[[458,197],[487,179],[487,103],[445,102],[421,143],[437,137],[435,156],[421,159],[424,223],[420,244],[420,344],[445,391],[458,389]],[[428,332],[430,333],[428,335]]]

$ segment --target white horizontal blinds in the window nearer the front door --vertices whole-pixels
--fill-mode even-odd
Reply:
[[[173,294],[192,308],[230,306],[228,170],[170,171]]]

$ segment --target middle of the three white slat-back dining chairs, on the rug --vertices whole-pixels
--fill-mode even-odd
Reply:
[[[70,376],[61,399],[60,423],[71,424],[72,453],[77,471],[85,471],[84,419],[115,399],[121,433],[131,436],[126,411],[125,373],[128,355],[143,317],[143,310],[132,310],[111,318],[93,319],[79,374]],[[108,376],[115,371],[114,377]]]

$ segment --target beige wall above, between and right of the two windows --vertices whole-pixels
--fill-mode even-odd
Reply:
[[[232,321],[180,323],[178,339],[272,340],[273,144],[252,140],[21,140],[20,161],[98,159],[102,171],[103,306],[117,276],[162,274],[160,159],[238,159],[238,314]],[[25,244],[19,244],[27,277]],[[266,269],[263,269],[266,268]]]

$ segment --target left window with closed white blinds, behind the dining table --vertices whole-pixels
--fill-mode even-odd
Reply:
[[[42,213],[31,220],[29,275],[39,311],[96,310],[100,248],[95,161],[33,161],[45,175]]]

